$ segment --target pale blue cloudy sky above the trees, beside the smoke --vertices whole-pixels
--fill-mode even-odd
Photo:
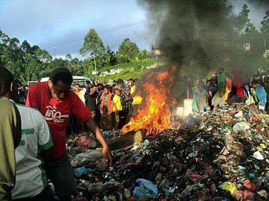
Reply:
[[[245,0],[234,0],[238,13]],[[265,15],[265,7],[253,7],[250,17],[257,28]],[[96,31],[147,18],[146,11],[136,0],[0,0],[0,29],[9,37],[16,37],[30,45],[46,49],[52,56],[53,44],[57,57],[81,58],[78,50],[90,28]],[[140,49],[150,50],[154,32],[146,23],[139,23],[108,33],[99,34],[105,45],[117,51],[119,44],[128,37]],[[57,42],[76,38],[73,42]]]

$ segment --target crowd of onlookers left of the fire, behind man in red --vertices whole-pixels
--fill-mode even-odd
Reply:
[[[88,89],[77,83],[72,90],[87,105],[94,120],[104,130],[120,129],[134,116],[133,105],[141,103],[141,96],[137,95],[135,80],[132,78],[127,82],[110,79],[104,84],[93,84]],[[72,117],[69,127],[71,133],[85,132],[83,123],[79,124]]]

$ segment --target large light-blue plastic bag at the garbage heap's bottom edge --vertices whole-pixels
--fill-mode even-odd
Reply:
[[[149,198],[158,198],[158,189],[151,181],[145,179],[137,179],[136,182],[140,187],[135,187],[133,191],[134,197],[139,200],[148,200]]]

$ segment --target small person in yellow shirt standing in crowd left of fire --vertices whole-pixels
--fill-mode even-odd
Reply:
[[[118,128],[119,128],[120,111],[122,111],[122,105],[121,105],[121,100],[120,100],[120,89],[115,88],[114,89],[114,97],[113,97],[113,109],[112,109],[115,130],[118,130]]]

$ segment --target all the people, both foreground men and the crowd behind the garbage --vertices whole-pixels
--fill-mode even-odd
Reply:
[[[111,165],[99,127],[117,131],[136,116],[145,100],[143,81],[110,79],[89,88],[72,82],[67,69],[57,68],[48,82],[15,90],[13,76],[0,67],[0,200],[47,201],[52,196],[48,179],[59,200],[71,200],[77,190],[65,150],[68,132],[92,132]],[[209,80],[185,76],[174,84],[169,89],[171,120],[178,118],[178,108],[202,113],[236,102],[269,110],[268,70],[245,75],[219,68]]]

